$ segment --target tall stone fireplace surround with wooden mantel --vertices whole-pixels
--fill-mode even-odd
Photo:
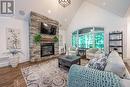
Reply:
[[[55,26],[59,25],[58,21],[52,20],[46,16],[40,15],[36,12],[30,13],[30,22],[29,22],[29,49],[30,49],[30,61],[36,62],[41,60],[47,60],[50,58],[57,57],[59,55],[59,43],[53,42],[53,37],[55,35],[46,35],[42,34],[41,44],[36,45],[33,42],[33,37],[35,34],[40,32],[41,22],[45,22],[47,24],[52,24]],[[59,36],[59,28],[56,30],[56,35]],[[41,53],[41,45],[47,43],[54,43],[54,54],[42,56]]]

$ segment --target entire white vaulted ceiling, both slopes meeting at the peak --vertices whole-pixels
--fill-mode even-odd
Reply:
[[[130,14],[127,12],[130,7],[130,0],[71,0],[71,4],[63,8],[58,4],[58,0],[15,0],[16,18],[28,20],[29,12],[35,11],[52,19],[58,20],[66,29],[72,18],[76,14],[84,1],[90,2],[115,15],[124,17]],[[25,15],[20,14],[25,12]]]

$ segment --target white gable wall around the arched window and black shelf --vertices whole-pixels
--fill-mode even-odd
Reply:
[[[67,30],[67,44],[71,45],[72,32],[85,27],[104,27],[105,29],[105,49],[108,51],[108,34],[110,31],[121,30],[124,32],[124,56],[126,57],[126,18],[119,17],[115,14],[101,9],[87,1],[85,1]]]

